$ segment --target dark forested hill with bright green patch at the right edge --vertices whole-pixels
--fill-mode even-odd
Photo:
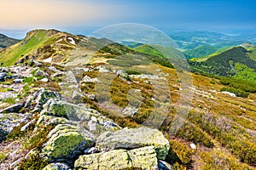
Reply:
[[[252,77],[252,75],[255,74],[256,61],[253,60],[253,57],[252,51],[239,46],[230,48],[206,60],[190,59],[189,65],[194,71],[223,77],[236,77],[254,82],[254,76]]]

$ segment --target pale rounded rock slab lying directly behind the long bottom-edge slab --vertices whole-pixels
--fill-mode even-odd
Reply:
[[[158,159],[165,160],[170,145],[164,135],[148,127],[123,128],[116,132],[102,133],[96,141],[97,150],[135,149],[154,145]]]

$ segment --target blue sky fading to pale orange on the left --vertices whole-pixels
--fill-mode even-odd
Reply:
[[[254,29],[255,16],[255,0],[0,0],[0,32],[127,22],[162,30]]]

